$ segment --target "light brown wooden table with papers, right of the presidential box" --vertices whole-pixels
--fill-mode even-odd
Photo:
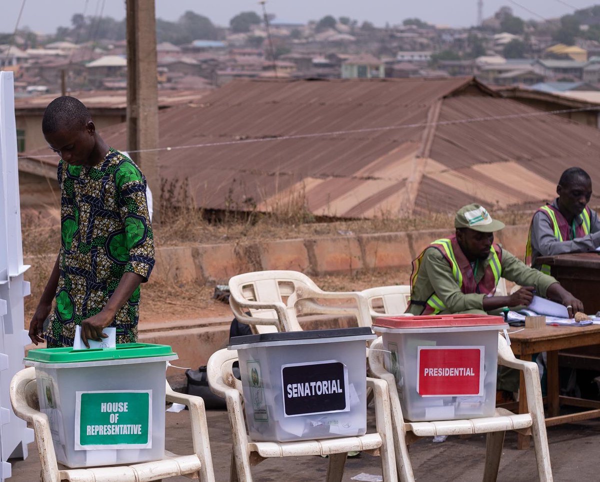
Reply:
[[[516,329],[518,328],[513,328],[511,331],[515,331]],[[558,358],[559,350],[600,344],[600,325],[526,328],[523,331],[511,333],[510,338],[512,352],[522,360],[532,361],[533,353],[547,352],[547,427],[600,416],[600,401],[560,395]],[[588,410],[570,415],[559,415],[561,404],[584,407]],[[518,412],[528,412],[523,373],[521,373],[520,380]],[[529,441],[530,436],[522,435],[521,433],[518,434],[517,445],[520,450],[528,448]]]

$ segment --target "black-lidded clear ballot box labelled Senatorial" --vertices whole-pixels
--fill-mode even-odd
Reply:
[[[233,337],[253,441],[367,432],[366,341],[370,328]]]

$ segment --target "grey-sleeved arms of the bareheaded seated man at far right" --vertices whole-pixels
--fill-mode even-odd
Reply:
[[[592,213],[595,214],[595,213]],[[592,222],[595,221],[595,222]],[[600,246],[600,224],[598,216],[590,219],[592,233],[570,241],[559,241],[554,237],[554,228],[544,213],[538,212],[533,216],[531,243],[542,256],[565,254],[571,252],[590,252]]]

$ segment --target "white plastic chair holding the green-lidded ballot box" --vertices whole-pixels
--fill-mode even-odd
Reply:
[[[166,386],[166,400],[184,404],[190,409],[193,454],[178,456],[165,451],[165,458],[155,462],[67,469],[56,462],[48,417],[39,411],[35,368],[29,367],[19,371],[10,383],[10,401],[14,413],[34,427],[35,440],[40,453],[40,480],[43,482],[63,480],[71,482],[147,482],[178,475],[191,475],[205,482],[213,482],[215,475],[212,468],[204,401],[200,397],[174,392],[169,383]]]

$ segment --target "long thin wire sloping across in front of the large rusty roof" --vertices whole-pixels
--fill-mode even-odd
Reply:
[[[272,136],[266,138],[254,138],[254,139],[239,139],[235,141],[225,142],[205,142],[203,144],[191,144],[191,145],[175,145],[173,147],[157,147],[154,149],[139,149],[139,150],[128,150],[128,153],[139,153],[139,152],[150,152],[150,151],[172,151],[179,149],[191,149],[191,148],[202,148],[202,147],[222,147],[226,145],[237,145],[237,144],[254,144],[256,142],[271,142],[271,141],[289,141],[292,139],[311,139],[320,137],[334,137],[344,134],[359,134],[366,132],[380,132],[386,130],[397,130],[397,129],[414,129],[416,127],[430,127],[430,126],[451,126],[455,124],[472,124],[476,122],[488,122],[494,120],[509,120],[517,118],[530,118],[530,117],[542,117],[544,115],[557,115],[557,114],[568,114],[570,112],[586,112],[586,111],[600,111],[600,106],[581,107],[576,109],[559,109],[556,111],[539,111],[529,112],[527,114],[507,114],[507,115],[496,115],[487,117],[470,117],[466,119],[457,119],[450,121],[437,121],[437,122],[422,122],[415,124],[400,124],[397,126],[383,126],[383,127],[364,127],[362,129],[350,129],[350,130],[334,130],[330,132],[314,132],[310,134],[293,134],[285,136]],[[55,154],[40,154],[35,156],[19,156],[27,159],[37,159],[41,157],[56,157]]]

